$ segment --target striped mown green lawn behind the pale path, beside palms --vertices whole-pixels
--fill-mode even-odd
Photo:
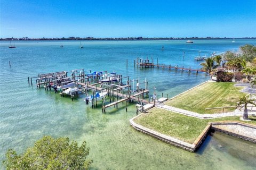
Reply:
[[[206,82],[167,101],[165,105],[205,114],[205,108],[236,106],[239,97],[245,95],[239,92],[241,89],[242,87],[234,87],[234,83],[231,82]],[[225,109],[225,112],[234,111],[234,109]],[[222,109],[207,111],[207,113],[220,112]]]

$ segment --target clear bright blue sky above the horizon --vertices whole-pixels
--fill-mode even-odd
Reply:
[[[255,0],[0,2],[0,38],[256,37]]]

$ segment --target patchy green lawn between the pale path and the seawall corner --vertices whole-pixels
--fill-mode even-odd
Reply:
[[[250,118],[252,121],[246,123],[256,124],[256,117]],[[150,113],[142,114],[134,120],[135,123],[146,128],[188,143],[193,143],[198,135],[204,130],[207,123],[214,121],[239,121],[239,117],[201,120],[199,118],[173,113],[164,109],[153,108]]]

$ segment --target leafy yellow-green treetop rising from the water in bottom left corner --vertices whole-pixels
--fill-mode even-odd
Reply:
[[[18,155],[13,149],[6,152],[3,164],[6,169],[89,169],[92,160],[87,160],[89,148],[84,141],[81,147],[68,138],[45,136]]]

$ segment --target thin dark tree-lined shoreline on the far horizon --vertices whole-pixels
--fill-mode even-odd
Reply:
[[[221,39],[233,39],[233,38],[219,38],[219,37],[205,37],[205,38],[199,38],[199,37],[190,37],[190,38],[145,38],[145,37],[126,37],[126,38],[93,38],[93,37],[86,37],[86,38],[80,38],[80,37],[69,37],[69,38],[1,38],[1,41],[10,41],[10,40],[22,40],[22,41],[49,41],[49,40],[221,40]],[[235,38],[235,39],[256,39],[256,37],[243,37],[243,38]]]

